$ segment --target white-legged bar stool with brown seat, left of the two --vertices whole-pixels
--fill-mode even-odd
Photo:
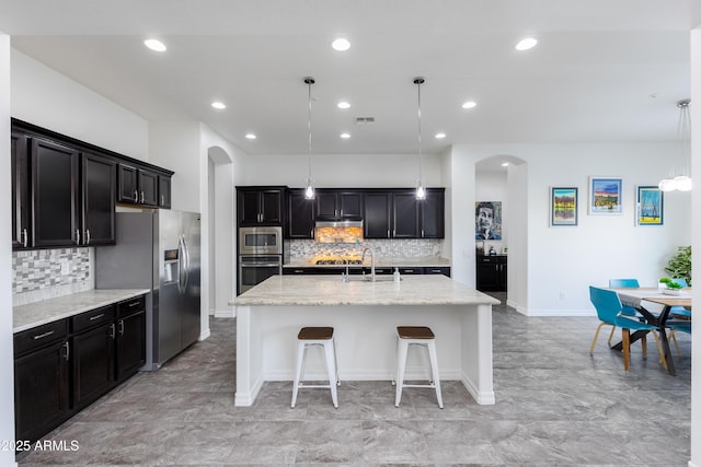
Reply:
[[[326,358],[326,370],[329,372],[327,385],[306,385],[304,384],[304,366],[307,364],[307,349],[314,346],[324,348]],[[295,408],[297,404],[297,392],[301,388],[331,388],[331,399],[333,406],[338,408],[338,396],[336,386],[338,381],[338,364],[336,361],[336,343],[333,340],[332,327],[303,327],[297,335],[297,371],[295,372],[295,385],[292,386],[292,404]]]

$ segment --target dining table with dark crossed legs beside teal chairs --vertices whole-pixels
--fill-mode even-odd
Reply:
[[[691,288],[685,288],[677,292],[665,292],[664,289],[656,287],[640,287],[640,288],[611,288],[618,293],[619,299],[623,305],[632,306],[645,318],[645,320],[653,326],[659,327],[659,341],[664,354],[664,359],[667,365],[667,371],[670,375],[677,374],[675,369],[675,362],[671,358],[669,350],[669,336],[667,335],[666,327],[671,323],[677,323],[671,316],[673,308],[675,306],[683,306],[687,310],[691,310]],[[654,303],[659,306],[645,306],[645,302]],[[655,311],[657,308],[657,311]],[[688,320],[685,320],[688,323]],[[647,330],[637,330],[631,335],[631,342],[645,336]],[[619,342],[611,347],[614,350],[621,350],[622,342]]]

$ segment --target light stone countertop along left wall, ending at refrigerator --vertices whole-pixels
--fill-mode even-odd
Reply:
[[[27,305],[14,306],[12,308],[12,331],[20,332],[149,292],[149,289],[93,289]]]

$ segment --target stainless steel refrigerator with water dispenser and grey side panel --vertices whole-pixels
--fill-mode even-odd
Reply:
[[[116,217],[116,245],[95,247],[95,287],[151,290],[141,370],[158,370],[199,337],[199,214],[154,209]]]

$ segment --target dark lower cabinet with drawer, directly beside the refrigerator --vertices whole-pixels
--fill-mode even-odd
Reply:
[[[117,304],[116,377],[122,382],[146,363],[146,300],[143,296]]]

